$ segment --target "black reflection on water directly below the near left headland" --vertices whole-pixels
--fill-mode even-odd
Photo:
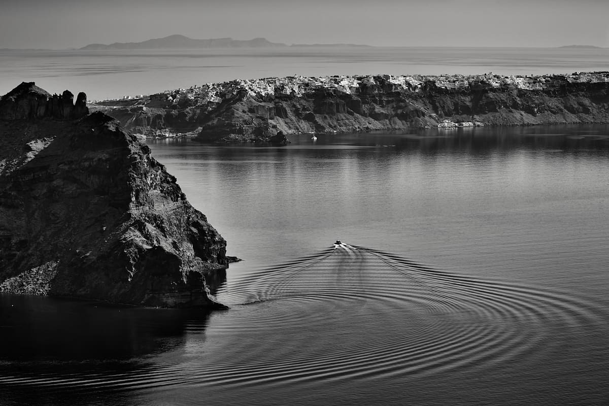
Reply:
[[[181,344],[189,317],[207,312],[0,295],[0,359],[9,362],[125,360]],[[108,328],[111,326],[111,328]],[[10,329],[10,330],[9,330]]]

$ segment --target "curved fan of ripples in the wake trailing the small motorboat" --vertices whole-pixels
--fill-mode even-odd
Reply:
[[[218,297],[230,311],[186,326],[180,351],[145,357],[135,371],[0,383],[153,388],[433,374],[542,359],[555,329],[607,323],[583,298],[347,244],[248,271]]]

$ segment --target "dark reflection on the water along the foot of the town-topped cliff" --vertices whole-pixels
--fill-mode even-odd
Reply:
[[[386,155],[393,152],[405,154],[446,154],[446,153],[472,153],[486,155],[495,152],[520,152],[523,150],[547,153],[593,153],[607,156],[609,153],[609,128],[607,125],[546,125],[530,127],[470,127],[449,128],[441,130],[414,130],[409,133],[403,131],[373,132],[356,134],[317,134],[315,141],[309,135],[291,135],[291,144],[287,147],[275,147],[273,153],[289,155],[292,150],[303,153],[303,150],[316,152],[315,158],[336,158],[328,150],[359,150],[376,149],[375,155]],[[188,147],[183,150],[181,158],[192,157],[196,152],[196,143],[191,139],[164,138],[149,139],[149,145],[167,145],[172,147]],[[199,145],[200,147],[200,145]],[[194,149],[194,150],[192,150]],[[249,163],[262,163],[262,153],[252,151],[262,150],[264,147],[247,147],[233,145],[223,147],[214,152],[214,155],[234,161],[234,158],[255,156]],[[205,149],[200,149],[199,156],[206,156]],[[250,151],[250,153],[247,153]],[[172,150],[179,153],[180,149]],[[369,154],[364,151],[362,155]],[[324,155],[321,155],[324,154]],[[171,157],[176,156],[174,154]],[[180,156],[180,155],[177,155]],[[229,161],[229,162],[230,162]],[[269,161],[270,162],[270,161]],[[236,161],[234,163],[241,163]]]

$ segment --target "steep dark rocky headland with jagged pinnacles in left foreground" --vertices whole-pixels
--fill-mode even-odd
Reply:
[[[226,242],[150,149],[86,96],[0,99],[0,292],[222,308]]]

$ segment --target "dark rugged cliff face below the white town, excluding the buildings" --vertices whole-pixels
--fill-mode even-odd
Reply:
[[[609,82],[571,83],[552,77],[552,85],[543,90],[493,88],[488,83],[445,89],[431,80],[409,89],[386,76],[370,82],[351,91],[319,86],[298,96],[281,93],[281,88],[263,96],[237,87],[219,93],[214,102],[182,97],[177,103],[169,97],[163,103],[150,97],[96,108],[139,133],[195,131],[205,142],[285,142],[284,135],[294,133],[429,128],[445,120],[477,125],[609,122]],[[228,87],[219,84],[217,89],[223,85]]]

